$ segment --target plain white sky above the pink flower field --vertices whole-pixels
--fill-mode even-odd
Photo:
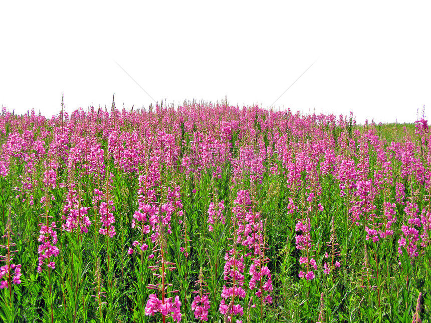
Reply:
[[[1,2],[0,105],[275,103],[375,122],[431,117],[429,2]]]

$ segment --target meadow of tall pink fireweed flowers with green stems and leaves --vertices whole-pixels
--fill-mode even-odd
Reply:
[[[431,322],[430,135],[227,103],[3,108],[1,321]]]

